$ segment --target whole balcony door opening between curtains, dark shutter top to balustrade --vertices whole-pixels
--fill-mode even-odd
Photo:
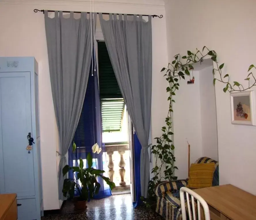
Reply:
[[[104,41],[97,41],[104,170],[116,187],[112,194],[133,190],[132,125]],[[106,184],[106,183],[105,183]]]

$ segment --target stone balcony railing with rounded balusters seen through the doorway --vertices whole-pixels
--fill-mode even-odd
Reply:
[[[106,145],[105,149],[108,155],[108,177],[116,184],[112,191],[129,190],[131,182],[129,145]]]

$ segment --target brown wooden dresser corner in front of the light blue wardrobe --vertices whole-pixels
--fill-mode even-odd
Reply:
[[[0,220],[17,220],[16,197],[16,194],[0,194]]]

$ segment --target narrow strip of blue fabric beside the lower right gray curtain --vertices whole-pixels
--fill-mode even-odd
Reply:
[[[137,137],[136,132],[133,135],[133,146],[134,146],[134,182],[135,182],[135,202],[133,202],[133,207],[136,208],[142,204],[140,199],[141,197],[141,188],[140,188],[140,151],[141,144]]]

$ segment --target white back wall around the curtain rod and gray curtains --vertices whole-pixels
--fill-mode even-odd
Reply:
[[[167,65],[165,9],[161,0],[95,0],[95,11],[163,14],[152,19],[152,136],[161,134],[167,114],[166,80],[159,73]],[[0,2],[0,56],[35,56],[39,62],[39,111],[44,209],[59,209],[57,168],[58,130],[54,114],[45,38],[44,15],[33,9],[89,11],[89,1],[2,0]],[[164,86],[163,86],[164,85]]]

